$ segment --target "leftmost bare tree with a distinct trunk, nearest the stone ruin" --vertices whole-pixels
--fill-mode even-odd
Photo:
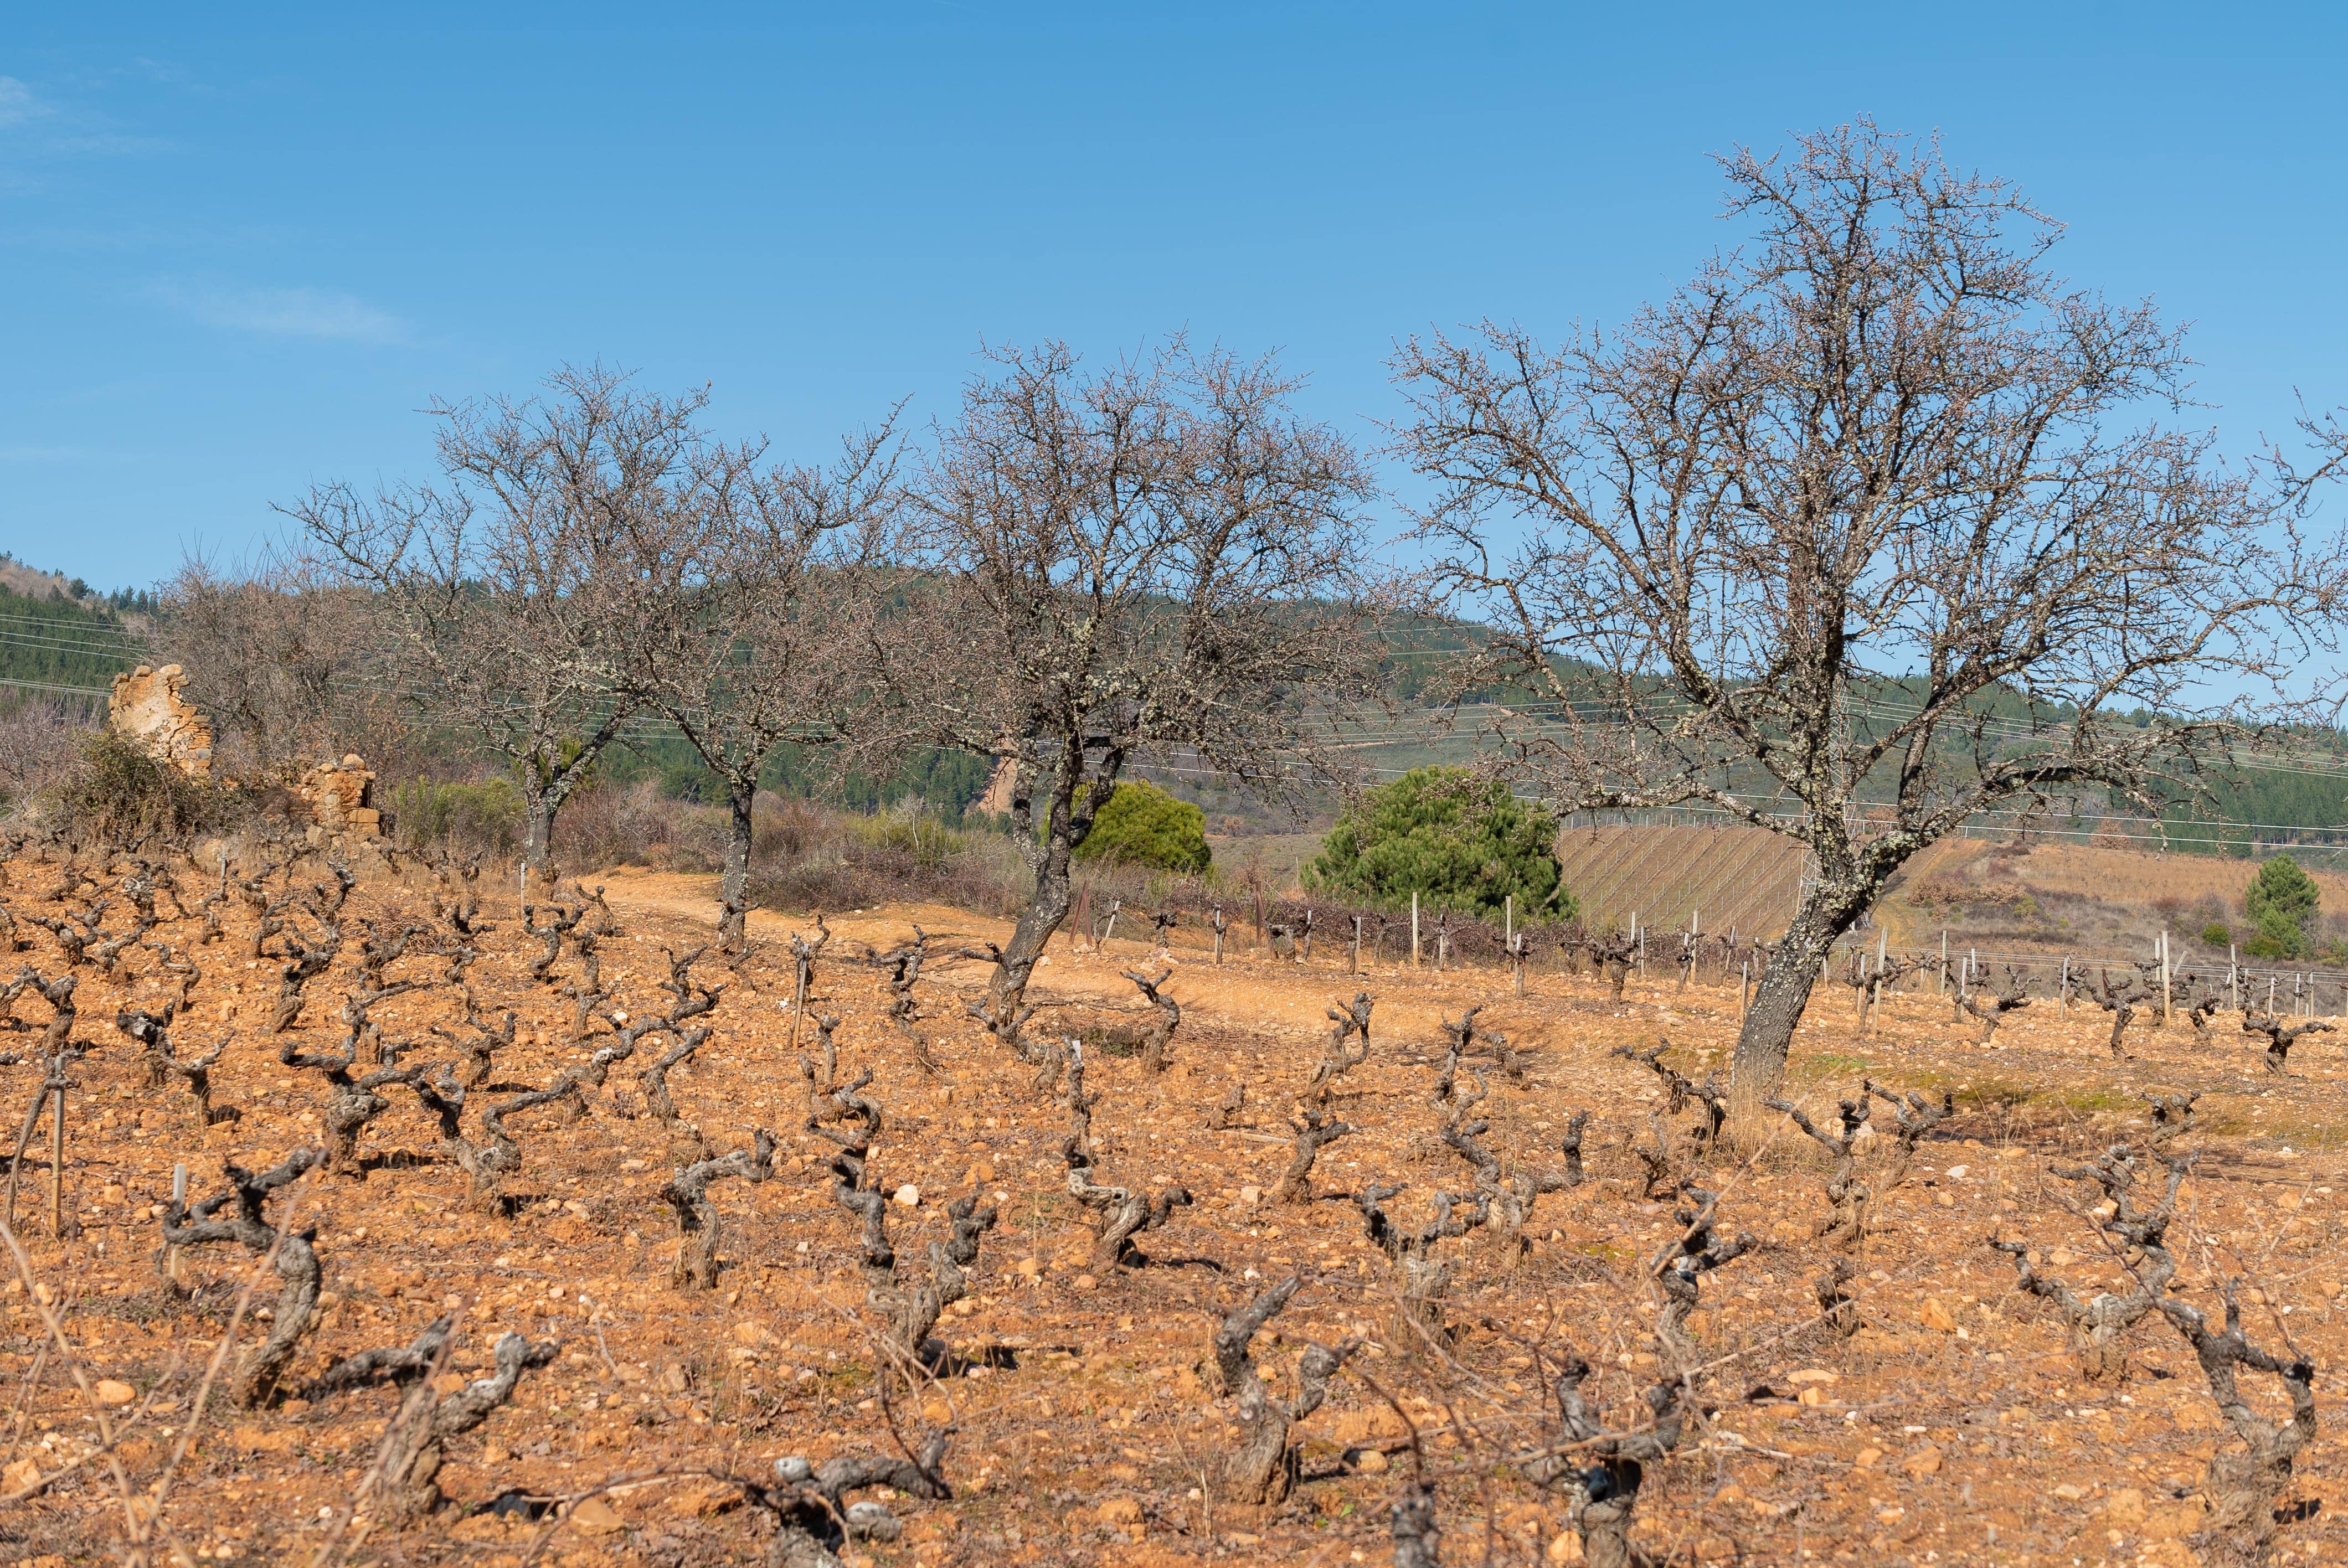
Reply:
[[[564,369],[542,399],[434,404],[441,488],[326,484],[284,507],[373,594],[420,718],[514,768],[540,876],[554,815],[632,714],[625,655],[643,629],[615,620],[615,566],[700,446],[704,404]]]

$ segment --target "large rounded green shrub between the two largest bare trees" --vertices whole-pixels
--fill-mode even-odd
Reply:
[[[1571,918],[1557,819],[1465,768],[1413,768],[1345,807],[1303,869],[1305,887],[1402,908],[1416,892],[1482,918],[1514,897],[1524,920]]]

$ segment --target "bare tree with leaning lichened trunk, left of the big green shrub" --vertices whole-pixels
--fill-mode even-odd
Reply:
[[[1010,768],[1035,894],[989,986],[998,1021],[1129,763],[1181,753],[1284,796],[1289,758],[1371,692],[1369,469],[1294,390],[1179,338],[1104,371],[1057,343],[996,352],[911,488],[925,570],[876,657],[897,739]]]

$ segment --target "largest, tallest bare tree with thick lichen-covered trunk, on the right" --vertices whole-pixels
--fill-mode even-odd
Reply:
[[[1759,1106],[1921,847],[2008,800],[2170,798],[2296,709],[2343,584],[2308,493],[2348,432],[2306,427],[2313,469],[2224,467],[2148,420],[2184,394],[2179,333],[2054,277],[2059,230],[1932,143],[1860,122],[1723,169],[1749,244],[1620,331],[1486,322],[1395,373],[1418,538],[1491,629],[1456,690],[1533,692],[1493,709],[1496,765],[1559,810],[1693,803],[1810,857],[1738,1040]]]

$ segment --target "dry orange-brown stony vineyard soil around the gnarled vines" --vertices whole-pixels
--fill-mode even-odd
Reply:
[[[54,880],[52,866],[16,864],[0,901],[38,906]],[[603,944],[613,1005],[657,1007],[662,948],[709,937],[707,887],[601,880],[625,925]],[[200,892],[190,890],[190,904]],[[364,883],[352,913],[427,918],[423,880]],[[594,1045],[564,1038],[571,1002],[559,984],[578,965],[566,955],[554,984],[531,984],[524,967],[535,944],[517,932],[512,908],[488,913],[500,930],[486,939],[474,986],[484,1009],[524,1016],[495,1080],[542,1084]],[[939,951],[1000,939],[1003,927],[951,908],[838,915],[817,967],[817,1005],[845,1019],[843,1061],[873,1070],[871,1094],[888,1110],[873,1162],[880,1188],[920,1190],[918,1207],[892,1209],[897,1251],[918,1258],[942,1235],[951,1195],[981,1190],[1000,1207],[972,1296],[939,1326],[967,1361],[996,1364],[883,1411],[855,1223],[831,1197],[829,1145],[803,1131],[805,1091],[789,1049],[780,941],[805,925],[761,915],[765,951],[728,984],[709,1019],[714,1040],[672,1084],[714,1148],[742,1148],[754,1127],[768,1127],[784,1150],[770,1183],[716,1188],[726,1214],[718,1289],[669,1284],[679,1237],[655,1192],[672,1150],[639,1113],[641,1056],[613,1073],[578,1122],[517,1117],[524,1169],[512,1190],[526,1202],[514,1218],[467,1204],[465,1176],[409,1099],[366,1129],[376,1169],[312,1174],[282,1204],[315,1225],[331,1303],[298,1378],[362,1347],[406,1343],[446,1307],[465,1312],[451,1380],[479,1373],[500,1331],[564,1343],[507,1408],[451,1444],[441,1474],[451,1507],[394,1530],[348,1519],[392,1392],[214,1408],[190,1427],[204,1361],[251,1265],[235,1249],[190,1251],[183,1275],[195,1293],[164,1291],[160,1204],[171,1167],[190,1167],[197,1195],[216,1192],[223,1160],[275,1164],[315,1141],[324,1103],[319,1077],[279,1066],[282,1040],[261,1033],[277,965],[244,955],[249,920],[235,911],[228,941],[195,951],[204,979],[174,1030],[183,1052],[228,1042],[216,1084],[239,1120],[200,1127],[181,1084],[139,1084],[136,1047],[113,1019],[120,1005],[160,1005],[167,993],[150,953],[134,951],[120,981],[82,969],[77,1038],[92,1049],[73,1068],[66,1169],[77,1235],[47,1235],[47,1171],[35,1164],[45,1143],[26,1160],[38,1181],[16,1221],[35,1286],[63,1307],[77,1368],[129,1390],[131,1404],[108,1420],[131,1507],[193,1432],[160,1523],[195,1563],[312,1561],[331,1533],[340,1545],[324,1561],[352,1563],[763,1561],[761,1516],[716,1476],[765,1474],[789,1453],[892,1453],[888,1413],[906,1441],[951,1425],[953,1498],[895,1500],[904,1537],[850,1545],[850,1563],[1385,1563],[1388,1514],[1416,1465],[1442,1486],[1444,1561],[1576,1561],[1564,1498],[1531,1486],[1510,1455],[1538,1451],[1554,1432],[1540,1366],[1566,1352],[1597,1366],[1590,1392],[1613,1422],[1637,1420],[1639,1392],[1658,1378],[1651,1261],[1676,1232],[1672,1209],[1644,1197],[1630,1148],[1662,1108],[1655,1077],[1608,1052],[1665,1038],[1669,1061],[1702,1077],[1726,1061],[1738,1023],[1733,986],[1707,981],[1679,991],[1665,976],[1634,979],[1630,998],[1613,1002],[1601,984],[1543,967],[1531,995],[1514,998],[1505,974],[1482,969],[1388,962],[1355,979],[1343,948],[1322,948],[1310,965],[1233,953],[1214,967],[1181,946],[1169,984],[1183,1005],[1174,1068],[1148,1077],[1136,1059],[1097,1052],[1089,1087],[1101,1091],[1101,1176],[1179,1181],[1197,1204],[1141,1237],[1151,1265],[1104,1270],[1087,1258],[1089,1232],[1064,1185],[1066,1113],[1033,1094],[1031,1070],[963,1014],[984,965],[939,960],[925,972],[920,1028],[944,1070],[932,1077],[885,1021],[878,972],[852,962],[857,951],[909,937],[913,922]],[[171,922],[155,937],[183,948],[195,930]],[[45,932],[19,925],[19,934],[28,946],[14,962],[61,972]],[[1038,988],[1132,1007],[1118,969],[1143,965],[1146,944],[1120,937],[1111,946],[1085,955],[1054,941]],[[289,1035],[303,1049],[338,1040],[355,951],[352,930],[343,960],[310,986]],[[423,979],[441,962],[418,955],[392,972]],[[1336,1103],[1359,1131],[1324,1150],[1317,1202],[1268,1207],[1259,1195],[1284,1164],[1284,1122],[1320,1054],[1322,1014],[1357,986],[1376,998],[1371,1056],[1341,1080]],[[1437,1352],[1392,1329],[1390,1265],[1367,1244],[1345,1192],[1402,1183],[1392,1204],[1416,1218],[1428,1195],[1470,1190],[1468,1167],[1437,1138],[1430,1082],[1439,1014],[1479,1002],[1531,1059],[1522,1087],[1491,1077],[1479,1108],[1493,1124],[1486,1141],[1540,1164],[1566,1120],[1587,1110],[1590,1181],[1538,1199],[1529,1251],[1491,1235],[1442,1244],[1456,1258],[1449,1319],[1458,1336]],[[16,1012],[35,1030],[47,1023],[31,995]],[[432,1023],[456,1016],[453,993],[439,986],[378,1007],[387,1033],[425,1040]],[[1080,1021],[1082,1009],[1059,1016]],[[2348,1331],[2336,1188],[2348,1115],[2339,1038],[2310,1038],[2292,1075],[2275,1077],[2224,1016],[2207,1045],[2181,1023],[2139,1023],[2125,1061],[2106,1052],[2106,1026],[2104,1014],[2038,1002],[1979,1049],[1972,1021],[1951,1021],[1939,998],[1911,995],[1862,1038],[1848,991],[1817,995],[1794,1056],[1813,1110],[1831,1113],[1836,1094],[1871,1075],[1900,1089],[1951,1089],[1958,1115],[1925,1141],[1907,1183],[1876,1197],[1876,1230],[1857,1258],[1867,1326],[1848,1340],[1817,1322],[1813,1300],[1810,1282],[1834,1258],[1810,1235],[1824,1209],[1815,1150],[1775,1122],[1752,1134],[1759,1145],[1702,1171],[1719,1192],[1723,1232],[1749,1230],[1759,1249],[1705,1279],[1695,1331],[1707,1415],[1651,1469],[1639,1542],[1674,1563],[2195,1561],[2188,1537],[2202,1528],[2202,1465],[2228,1432],[2193,1357],[2146,1322],[2132,1336],[2132,1376],[2090,1385],[2059,1324],[2012,1291],[2012,1268],[1989,1239],[2036,1242],[2076,1286],[2116,1282],[2116,1263],[2066,1207],[2071,1185],[2047,1167],[2141,1136],[2146,1091],[2198,1089],[2200,1131],[2186,1143],[2202,1157],[2174,1228],[2181,1289],[2214,1310],[2212,1282],[2247,1277],[2259,1291],[2249,1333],[2278,1350],[2296,1345],[2322,1366],[2322,1432],[2299,1458],[2278,1561],[2341,1556],[2348,1467],[2336,1368]],[[0,1047],[33,1040],[0,1035]],[[0,1068],[9,1127],[35,1082],[31,1061]],[[1209,1131],[1209,1110],[1235,1082],[1249,1089],[1247,1127]],[[1310,1282],[1256,1343],[1259,1359],[1280,1371],[1275,1392],[1294,1387],[1305,1340],[1364,1336],[1369,1345],[1301,1422],[1289,1502],[1244,1509],[1219,1495],[1233,1427],[1230,1406],[1202,1378],[1207,1336],[1226,1310],[1291,1270]],[[5,1291],[0,1383],[14,1408],[0,1465],[9,1493],[54,1481],[0,1507],[0,1559],[122,1561],[129,1523],[113,1472],[89,1462],[92,1406],[54,1347],[42,1350],[23,1279]],[[256,1300],[272,1296],[275,1286]],[[2280,1408],[2273,1380],[2249,1383],[2261,1408]],[[1402,1413],[1416,1425],[1416,1453]],[[507,1493],[580,1500],[613,1481],[540,1521],[528,1509],[479,1512]]]

